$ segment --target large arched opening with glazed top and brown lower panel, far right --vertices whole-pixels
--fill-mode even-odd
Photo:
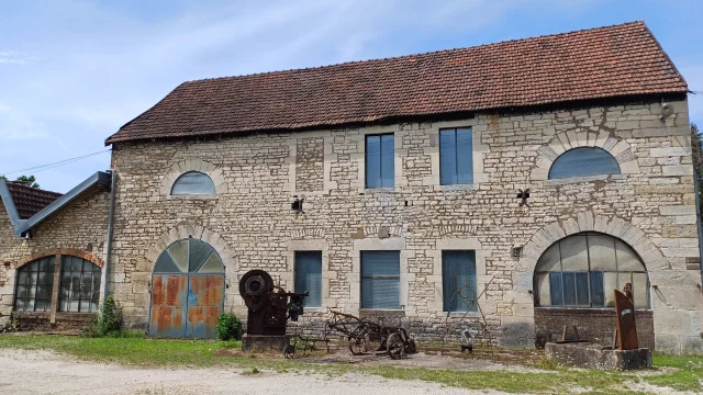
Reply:
[[[641,258],[625,241],[587,232],[547,248],[535,267],[535,330],[538,347],[560,340],[563,326],[607,343],[615,326],[613,290],[633,284],[640,343],[654,347],[649,278]]]

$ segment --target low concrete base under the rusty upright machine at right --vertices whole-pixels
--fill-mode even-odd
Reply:
[[[547,358],[563,364],[596,370],[633,370],[651,368],[651,350],[612,350],[591,342],[545,345]]]

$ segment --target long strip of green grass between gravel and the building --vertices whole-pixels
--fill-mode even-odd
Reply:
[[[136,336],[136,335],[134,335]],[[546,372],[458,371],[448,369],[400,368],[392,365],[313,364],[305,360],[280,360],[256,356],[219,356],[217,350],[239,347],[238,341],[156,340],[142,337],[83,338],[47,335],[0,336],[0,348],[54,350],[98,362],[130,365],[236,366],[242,374],[310,372],[331,376],[366,373],[386,379],[422,380],[469,390],[498,390],[509,393],[563,393],[565,388],[583,388],[599,394],[634,393],[627,383],[647,383],[679,391],[703,391],[703,357],[655,356],[655,365],[674,368],[658,375],[568,370],[545,361]],[[470,362],[469,362],[470,363]]]

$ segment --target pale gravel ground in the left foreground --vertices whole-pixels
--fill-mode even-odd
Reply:
[[[233,369],[134,369],[78,361],[49,351],[0,350],[7,394],[501,394],[362,374],[326,376]]]

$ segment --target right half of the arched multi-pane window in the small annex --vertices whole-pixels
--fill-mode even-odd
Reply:
[[[62,285],[58,311],[74,313],[98,312],[102,269],[78,257],[62,257]]]

